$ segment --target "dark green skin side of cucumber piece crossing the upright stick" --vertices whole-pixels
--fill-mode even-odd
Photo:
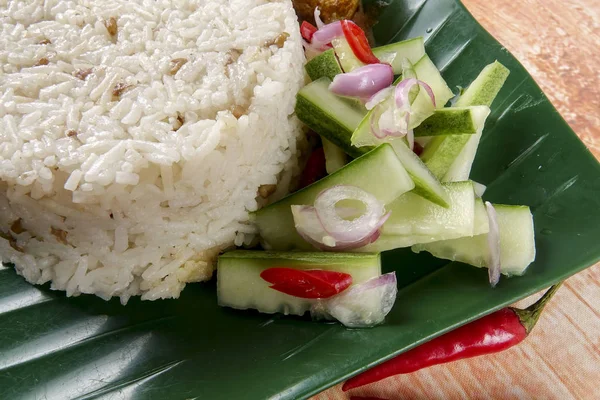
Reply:
[[[468,108],[442,108],[421,122],[414,130],[415,137],[474,134],[477,126]]]

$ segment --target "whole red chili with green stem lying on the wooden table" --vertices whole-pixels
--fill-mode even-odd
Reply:
[[[544,306],[560,285],[561,283],[552,286],[541,299],[524,310],[503,308],[379,364],[347,380],[342,390],[354,389],[432,365],[506,350],[527,337]]]

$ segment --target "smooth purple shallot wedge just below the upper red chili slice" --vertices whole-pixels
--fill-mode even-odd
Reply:
[[[389,64],[368,64],[336,75],[329,90],[340,96],[367,99],[388,88],[393,81],[394,71]]]

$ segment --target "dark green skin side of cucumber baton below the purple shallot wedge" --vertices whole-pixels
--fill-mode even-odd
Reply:
[[[325,136],[330,142],[343,149],[351,157],[360,157],[370,150],[369,148],[352,146],[350,138],[354,132],[354,127],[342,124],[342,122],[332,117],[323,108],[305,98],[302,92],[299,92],[296,96],[296,116],[310,129]]]

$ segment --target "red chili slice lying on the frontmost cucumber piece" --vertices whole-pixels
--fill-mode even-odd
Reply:
[[[272,284],[279,292],[303,299],[326,299],[346,290],[352,284],[352,276],[344,272],[314,269],[268,268],[260,277]]]

